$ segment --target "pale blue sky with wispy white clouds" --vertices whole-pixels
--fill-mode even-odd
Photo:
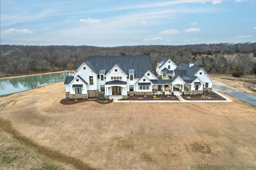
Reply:
[[[256,0],[0,0],[0,44],[256,42]]]

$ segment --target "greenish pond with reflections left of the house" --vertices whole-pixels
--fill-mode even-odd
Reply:
[[[73,73],[52,73],[0,80],[0,95],[8,95],[11,93],[33,89],[42,85],[62,82],[65,81],[66,76],[72,76],[72,74]]]

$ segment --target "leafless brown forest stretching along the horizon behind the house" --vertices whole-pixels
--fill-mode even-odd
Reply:
[[[139,45],[121,47],[0,45],[2,76],[74,70],[90,55],[151,55],[152,66],[164,57],[176,65],[193,61],[208,73],[230,74],[236,65],[256,73],[256,43],[196,45]]]

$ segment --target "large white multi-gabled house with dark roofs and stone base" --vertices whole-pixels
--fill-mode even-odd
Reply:
[[[202,93],[203,87],[211,90],[212,79],[203,67],[182,63],[178,67],[164,58],[156,67],[160,79],[152,71],[150,55],[89,56],[88,61],[77,63],[73,76],[67,76],[66,97],[88,98],[104,94],[127,98],[129,93],[152,95],[169,89],[166,93],[179,91]],[[165,73],[165,74],[164,74]]]

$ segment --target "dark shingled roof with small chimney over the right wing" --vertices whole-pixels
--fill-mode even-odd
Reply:
[[[175,75],[172,77],[171,82],[173,82],[178,76],[185,81],[185,83],[192,83],[197,76],[195,74],[200,70],[203,69],[205,72],[204,67],[196,67],[196,66],[191,66],[189,67],[189,64],[186,63],[180,63],[180,65],[174,69]]]

